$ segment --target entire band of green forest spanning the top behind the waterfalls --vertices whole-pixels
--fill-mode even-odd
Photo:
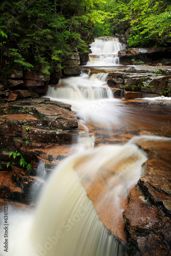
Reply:
[[[89,32],[127,33],[130,47],[167,46],[171,36],[169,0],[9,0],[0,13],[1,68],[16,62],[50,74],[71,47],[88,51]]]

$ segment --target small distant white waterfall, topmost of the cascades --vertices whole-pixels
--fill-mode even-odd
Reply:
[[[90,45],[92,53],[87,66],[106,67],[119,65],[118,51],[122,50],[118,38],[98,37]]]

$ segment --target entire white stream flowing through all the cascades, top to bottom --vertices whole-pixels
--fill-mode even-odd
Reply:
[[[119,49],[121,45],[115,39],[96,39],[92,54],[99,59],[91,57],[91,66],[92,62],[95,66],[104,65],[103,61],[107,61],[107,66],[111,61],[119,63],[116,56]],[[106,57],[107,54],[111,56]],[[16,210],[11,207],[9,252],[4,252],[1,246],[1,256],[126,255],[125,245],[104,227],[97,212],[105,209],[106,214],[111,214],[112,209],[114,213],[109,224],[111,230],[117,227],[123,211],[121,201],[145,172],[147,154],[137,143],[160,142],[163,138],[132,135],[132,139],[124,137],[120,143],[115,141],[122,137],[123,131],[129,137],[127,126],[137,125],[139,113],[135,110],[133,113],[132,105],[126,108],[122,100],[114,99],[105,79],[105,73],[82,73],[79,77],[61,79],[56,88],[49,86],[46,97],[70,103],[83,130],[77,145],[73,145],[76,153],[54,169],[36,208]],[[142,127],[148,127],[151,117],[148,118]],[[93,135],[88,124],[97,129]],[[153,129],[156,127],[154,122]],[[96,140],[99,145],[94,146]],[[43,164],[38,169],[38,176],[40,173],[42,178],[47,178]],[[93,193],[98,192],[94,202],[88,197],[92,184],[96,186]],[[4,241],[3,234],[1,241]]]

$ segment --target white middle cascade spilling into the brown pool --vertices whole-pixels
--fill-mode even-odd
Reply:
[[[49,86],[46,97],[72,105],[72,111],[83,121],[118,126],[125,122],[119,99],[114,99],[111,89],[104,81],[107,74],[81,74],[78,77],[60,79],[57,88]]]

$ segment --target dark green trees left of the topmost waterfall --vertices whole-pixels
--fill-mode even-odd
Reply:
[[[54,65],[61,68],[61,58],[70,53],[72,45],[80,52],[88,51],[80,33],[105,18],[103,11],[95,9],[98,3],[104,1],[3,1],[0,6],[2,56],[10,65],[41,69],[50,75]],[[5,66],[5,61],[1,61]]]

